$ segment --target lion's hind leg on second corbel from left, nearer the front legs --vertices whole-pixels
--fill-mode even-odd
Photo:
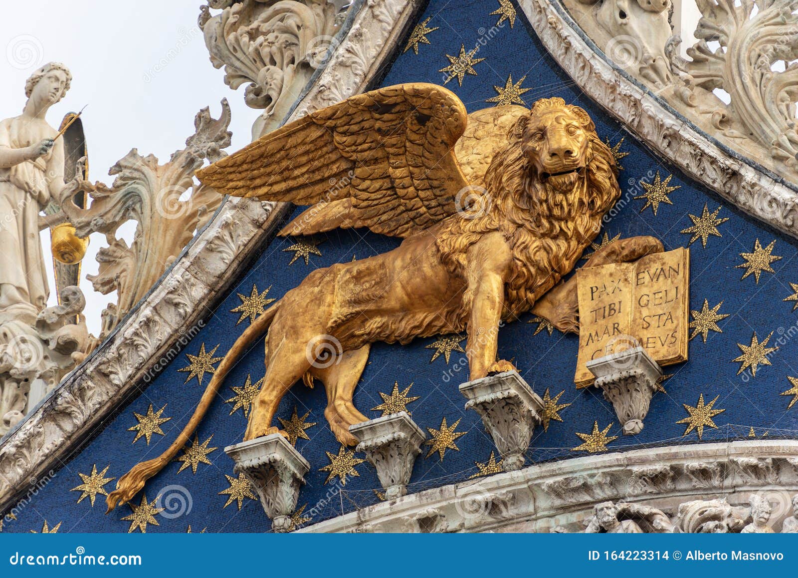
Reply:
[[[324,417],[330,423],[335,438],[344,445],[358,444],[358,440],[350,434],[349,427],[368,420],[354,406],[352,397],[369,361],[370,349],[370,345],[365,345],[358,350],[345,351],[330,366],[310,368],[310,374],[324,383],[327,392]]]

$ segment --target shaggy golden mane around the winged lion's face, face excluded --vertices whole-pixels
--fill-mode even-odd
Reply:
[[[523,152],[521,117],[508,134],[508,143],[496,153],[485,173],[488,198],[476,218],[452,216],[437,236],[444,263],[460,274],[468,247],[487,232],[500,231],[512,249],[512,272],[506,285],[508,316],[528,311],[574,266],[595,238],[602,216],[620,196],[617,168],[610,148],[599,140],[595,125],[582,109],[562,99],[543,99],[539,106],[563,106],[578,110],[590,134],[587,178],[579,179],[570,192],[558,192],[539,179]],[[535,113],[532,109],[532,113]],[[466,295],[465,300],[468,301]],[[470,303],[464,303],[470,311]]]

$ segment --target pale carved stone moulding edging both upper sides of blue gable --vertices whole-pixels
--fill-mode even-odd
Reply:
[[[667,109],[597,53],[562,7],[552,2],[520,0],[520,6],[543,45],[585,93],[689,176],[758,219],[798,236],[792,188],[731,156]],[[389,61],[423,4],[364,0],[355,6],[346,37],[290,118],[364,90]],[[151,380],[180,353],[209,315],[207,304],[235,283],[240,266],[255,255],[288,210],[234,199],[219,208],[108,340],[0,440],[0,513],[25,497],[38,479],[58,469],[95,426],[136,394],[140,383]],[[785,447],[796,455],[792,445]]]

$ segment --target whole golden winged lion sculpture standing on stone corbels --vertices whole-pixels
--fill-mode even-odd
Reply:
[[[239,337],[194,415],[160,457],[108,497],[129,501],[186,444],[224,376],[268,331],[266,375],[245,440],[273,434],[282,395],[322,382],[325,416],[344,444],[367,418],[352,403],[371,343],[468,331],[470,378],[512,370],[496,360],[503,320],[533,310],[578,331],[575,282],[559,280],[620,196],[617,168],[588,114],[561,98],[468,114],[437,85],[389,86],[311,113],[197,173],[222,194],[313,205],[280,232],[369,228],[404,239],[382,255],[307,275]],[[599,265],[662,251],[618,240]],[[552,287],[554,289],[552,290]],[[323,359],[320,359],[323,358]]]

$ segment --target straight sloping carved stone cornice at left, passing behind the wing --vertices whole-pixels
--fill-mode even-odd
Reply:
[[[290,118],[364,90],[393,53],[420,0],[366,0]],[[109,338],[0,441],[0,512],[60,468],[96,426],[154,378],[192,338],[290,212],[228,199]]]

